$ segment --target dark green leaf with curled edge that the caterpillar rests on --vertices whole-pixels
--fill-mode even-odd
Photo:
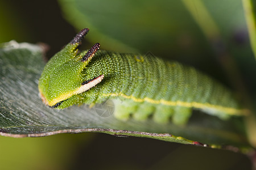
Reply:
[[[146,122],[132,119],[120,121],[111,112],[102,114],[102,110],[97,111],[99,108],[87,105],[61,111],[48,108],[42,103],[38,92],[38,79],[44,67],[42,58],[43,49],[38,45],[18,44],[15,41],[1,45],[1,135],[42,137],[94,131],[209,147],[250,146],[242,118],[221,121],[217,117],[195,112],[186,126],[177,126],[171,122],[157,124],[150,119]]]

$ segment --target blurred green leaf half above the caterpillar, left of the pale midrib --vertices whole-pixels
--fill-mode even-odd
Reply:
[[[64,16],[78,30],[90,28],[88,38],[101,48],[118,52],[149,50],[157,56],[193,57],[209,46],[181,1],[60,0]],[[204,40],[202,42],[201,40]],[[201,48],[199,48],[199,46]]]

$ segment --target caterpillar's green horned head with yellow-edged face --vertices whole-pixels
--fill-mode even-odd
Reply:
[[[100,48],[100,44],[96,43],[88,51],[78,54],[77,48],[88,31],[85,28],[77,33],[44,67],[39,79],[39,92],[44,104],[51,108],[64,108],[76,103],[75,99],[72,101],[72,96],[88,91],[104,78],[102,74],[86,80],[82,75],[82,70]]]

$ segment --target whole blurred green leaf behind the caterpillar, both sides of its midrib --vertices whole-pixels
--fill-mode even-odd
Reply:
[[[240,50],[243,56],[251,55],[240,0],[59,0],[59,3],[65,18],[77,30],[90,28],[87,38],[101,42],[104,49],[143,54],[150,50],[160,57],[189,59],[193,65],[211,63],[214,49],[205,35],[219,36],[217,32],[225,41],[216,48],[225,45],[232,48],[232,54],[241,54],[237,52]],[[205,14],[209,14],[210,20]],[[208,30],[202,30],[202,25]]]

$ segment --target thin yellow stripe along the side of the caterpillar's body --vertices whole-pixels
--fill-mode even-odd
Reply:
[[[150,99],[148,97],[144,97],[143,99],[139,99],[137,97],[134,96],[127,96],[125,94],[122,93],[110,93],[110,94],[103,94],[103,96],[105,97],[109,97],[109,96],[121,96],[124,97],[125,99],[131,99],[135,102],[138,103],[142,103],[144,101],[148,102],[148,103],[152,103],[152,104],[164,104],[164,105],[170,105],[170,106],[181,106],[181,107],[188,107],[188,108],[197,108],[197,109],[205,109],[205,108],[212,108],[212,109],[216,109],[218,111],[224,112],[226,114],[230,114],[230,115],[237,115],[237,116],[242,116],[242,115],[247,115],[248,112],[246,110],[241,110],[241,109],[235,109],[235,108],[230,108],[230,107],[223,107],[221,105],[213,105],[213,104],[209,104],[209,103],[198,103],[195,101],[192,102],[186,102],[186,101],[167,101],[167,100],[154,100],[154,99]]]

